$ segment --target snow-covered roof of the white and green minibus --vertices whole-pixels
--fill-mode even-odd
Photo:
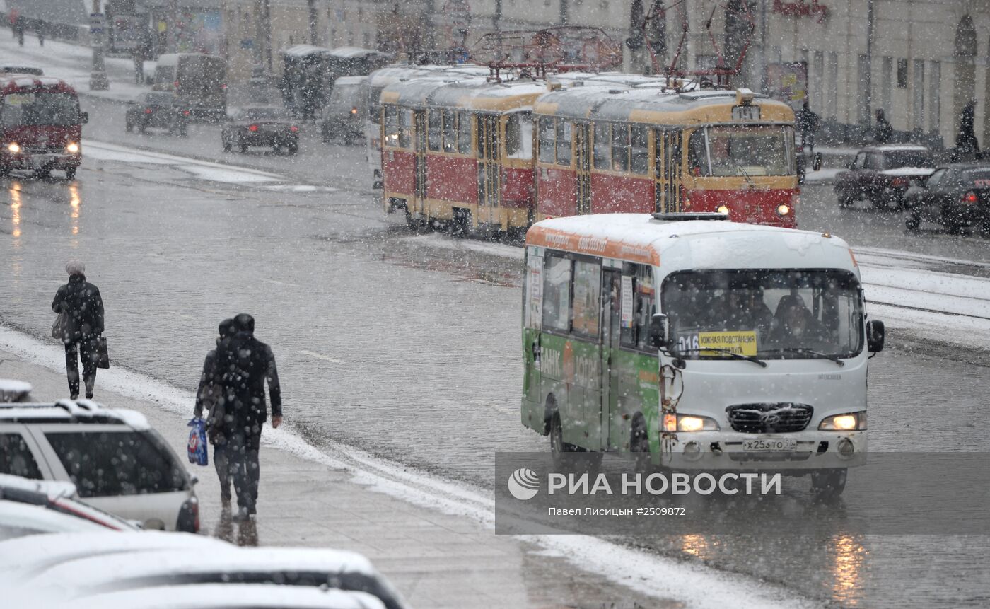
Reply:
[[[661,221],[651,214],[542,220],[527,232],[526,244],[653,265],[662,258],[671,268],[855,267],[848,244],[829,234],[728,221]]]

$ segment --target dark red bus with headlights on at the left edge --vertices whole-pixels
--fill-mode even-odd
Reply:
[[[59,169],[75,177],[88,120],[64,80],[0,72],[0,175],[25,169],[44,177]]]

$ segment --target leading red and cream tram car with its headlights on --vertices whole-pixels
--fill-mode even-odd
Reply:
[[[536,103],[536,218],[723,212],[793,228],[794,113],[736,91],[559,87]]]

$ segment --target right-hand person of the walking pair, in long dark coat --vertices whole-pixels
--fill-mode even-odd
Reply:
[[[228,456],[238,493],[237,521],[257,511],[257,486],[261,469],[258,449],[261,426],[268,418],[264,383],[271,396],[271,427],[282,424],[282,393],[278,386],[275,356],[254,338],[254,318],[242,313],[234,318],[238,333],[223,349],[218,349],[217,365],[224,391],[225,429],[231,430]]]

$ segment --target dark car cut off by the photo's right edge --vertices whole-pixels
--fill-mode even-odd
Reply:
[[[904,202],[911,209],[906,222],[911,231],[927,220],[950,233],[973,226],[988,235],[990,165],[967,162],[940,166],[924,185],[912,186]]]

